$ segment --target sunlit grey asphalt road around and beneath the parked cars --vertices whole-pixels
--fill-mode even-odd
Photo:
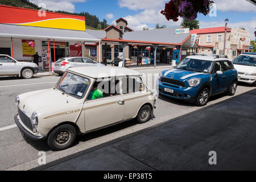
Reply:
[[[152,88],[155,85],[158,73],[162,70],[164,69],[140,69],[138,71],[153,74],[145,78],[148,82],[148,86]],[[160,96],[156,102],[156,109],[154,111],[155,118],[151,121],[143,123],[142,125],[137,125],[136,122],[129,121],[109,127],[108,129],[82,135],[77,138],[75,146],[72,148],[53,152],[45,141],[38,142],[30,139],[24,140],[22,138],[18,128],[14,125],[13,118],[17,113],[14,100],[15,97],[21,93],[51,88],[59,78],[60,77],[57,76],[48,76],[23,80],[17,77],[0,77],[0,170],[24,170],[38,167],[39,151],[46,151],[47,162],[52,162],[53,160],[75,154],[76,152],[98,146],[110,140],[146,129],[147,127],[159,125],[169,119],[201,109],[201,107],[196,107],[193,104]],[[240,84],[236,95],[245,93],[254,88],[255,87],[250,85]],[[230,96],[226,96],[225,94],[214,96],[210,98],[208,105],[213,105],[227,98],[230,98]]]

